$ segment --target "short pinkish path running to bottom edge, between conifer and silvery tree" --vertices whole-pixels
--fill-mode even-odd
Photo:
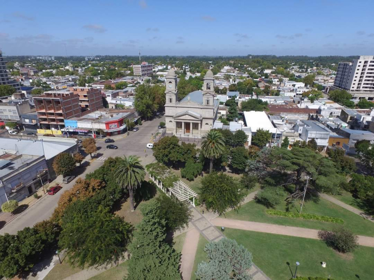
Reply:
[[[187,231],[184,239],[181,257],[182,279],[190,280],[193,273],[193,264],[195,260],[197,243],[199,243],[200,233],[196,228]]]

